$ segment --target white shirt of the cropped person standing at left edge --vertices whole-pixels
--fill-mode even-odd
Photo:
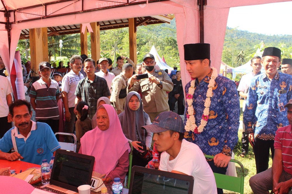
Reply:
[[[12,93],[9,80],[0,75],[0,117],[7,117],[9,113],[6,96]]]

